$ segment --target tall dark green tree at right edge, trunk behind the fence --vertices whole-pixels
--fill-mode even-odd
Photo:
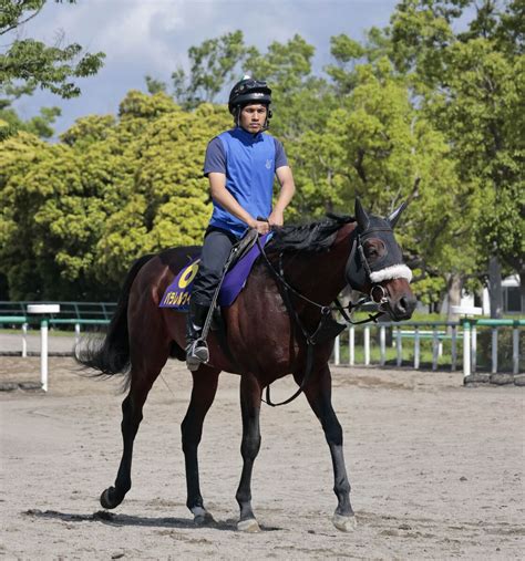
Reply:
[[[454,32],[465,8],[474,17]],[[476,233],[478,274],[493,271],[493,315],[501,262],[519,272],[525,303],[523,11],[522,1],[404,0],[390,30],[397,67],[411,73],[423,111],[452,146],[471,208],[483,210],[465,220]]]

